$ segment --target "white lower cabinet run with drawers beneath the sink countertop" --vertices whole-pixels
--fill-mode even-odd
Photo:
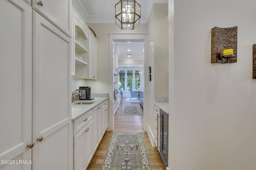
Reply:
[[[108,100],[76,119],[73,127],[74,170],[86,170],[108,127]]]

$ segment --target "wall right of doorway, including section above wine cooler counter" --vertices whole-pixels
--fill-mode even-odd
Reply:
[[[150,138],[154,137],[154,99],[168,97],[168,4],[153,4],[148,19],[149,57],[151,81],[148,81],[148,70],[145,79],[148,82]],[[145,65],[145,68],[148,68]]]

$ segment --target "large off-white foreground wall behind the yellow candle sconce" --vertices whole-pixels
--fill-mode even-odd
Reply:
[[[255,16],[255,0],[174,0],[170,169],[256,169]],[[238,26],[237,63],[210,63],[214,26]]]

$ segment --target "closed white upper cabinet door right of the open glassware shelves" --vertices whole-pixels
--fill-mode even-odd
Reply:
[[[97,79],[97,43],[91,36],[88,39],[88,78]]]

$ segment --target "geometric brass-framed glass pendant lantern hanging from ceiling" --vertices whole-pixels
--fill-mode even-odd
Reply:
[[[116,4],[116,24],[121,29],[134,29],[140,23],[140,4],[135,0],[120,0]]]

